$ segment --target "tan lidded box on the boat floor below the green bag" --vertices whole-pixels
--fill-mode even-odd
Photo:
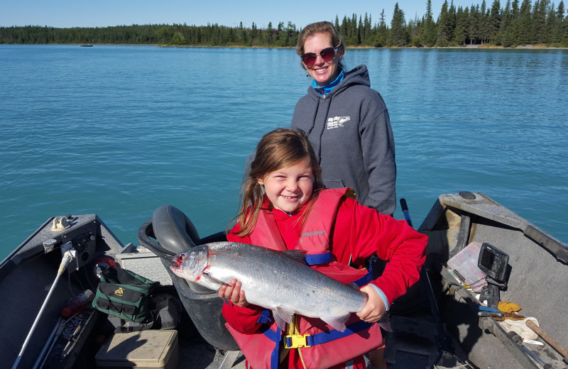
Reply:
[[[178,368],[178,331],[116,333],[94,357],[97,368]]]

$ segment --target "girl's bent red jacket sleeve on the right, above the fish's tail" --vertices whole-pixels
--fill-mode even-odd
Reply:
[[[391,304],[419,280],[427,243],[427,236],[406,221],[346,198],[337,211],[332,253],[342,263],[352,260],[357,265],[365,265],[366,258],[374,253],[388,260],[383,275],[371,283],[384,292]]]

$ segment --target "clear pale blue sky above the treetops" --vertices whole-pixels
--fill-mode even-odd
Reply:
[[[482,0],[455,0],[456,6],[481,4]],[[317,1],[306,0],[1,0],[0,26],[53,26],[53,27],[106,27],[131,24],[187,23],[204,26],[218,23],[222,26],[250,27],[256,23],[266,28],[282,21],[294,23],[297,28],[314,21],[333,21],[339,16],[358,16],[370,13],[373,23],[379,21],[385,11],[386,21],[391,22],[395,0]],[[434,18],[442,9],[443,0],[432,0]],[[421,17],[426,13],[427,0],[398,1],[405,18]]]

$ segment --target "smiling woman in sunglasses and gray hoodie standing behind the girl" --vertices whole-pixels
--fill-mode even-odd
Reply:
[[[370,88],[367,67],[345,71],[345,45],[329,22],[306,26],[296,53],[314,80],[296,104],[292,128],[308,134],[325,186],[351,187],[361,204],[393,215],[393,131],[383,98]]]

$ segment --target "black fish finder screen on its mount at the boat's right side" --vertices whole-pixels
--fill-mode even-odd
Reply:
[[[477,266],[487,276],[487,305],[497,308],[499,303],[499,290],[507,287],[507,265],[509,255],[499,250],[491,243],[484,242],[479,250]]]

